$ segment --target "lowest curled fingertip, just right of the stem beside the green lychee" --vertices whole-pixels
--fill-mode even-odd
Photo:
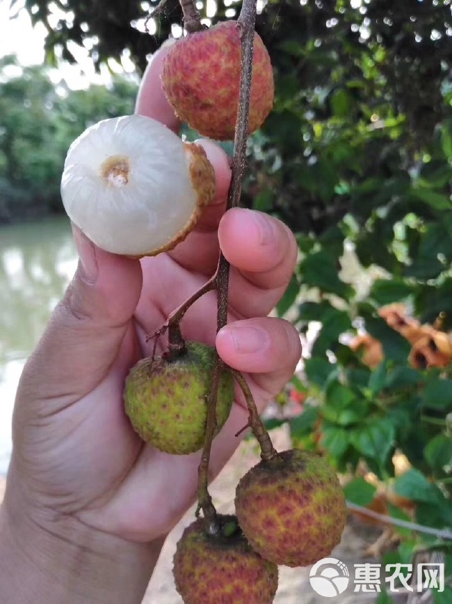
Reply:
[[[255,384],[271,395],[291,379],[301,356],[297,330],[289,321],[275,317],[226,325],[216,336],[216,349],[227,365],[252,374]]]

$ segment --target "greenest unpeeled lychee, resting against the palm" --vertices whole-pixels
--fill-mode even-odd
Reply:
[[[207,421],[214,349],[187,342],[186,353],[170,361],[148,357],[129,371],[124,409],[140,437],[166,453],[185,455],[202,448]],[[234,398],[229,372],[218,388],[217,433],[223,428]]]

